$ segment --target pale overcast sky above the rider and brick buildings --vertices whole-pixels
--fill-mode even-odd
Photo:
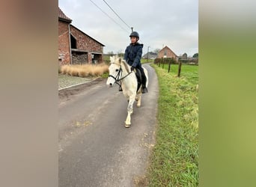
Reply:
[[[104,53],[124,52],[131,27],[143,55],[148,46],[150,52],[163,46],[176,55],[198,52],[198,0],[59,0],[58,6],[72,25],[105,45]]]

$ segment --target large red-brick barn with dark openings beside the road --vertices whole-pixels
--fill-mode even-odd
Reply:
[[[104,45],[71,25],[58,7],[58,61],[64,64],[94,64],[103,61]]]

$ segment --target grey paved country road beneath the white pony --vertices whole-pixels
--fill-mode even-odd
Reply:
[[[124,127],[127,100],[106,80],[84,85],[59,100],[59,186],[135,186],[154,144],[158,82],[149,73],[148,93]]]

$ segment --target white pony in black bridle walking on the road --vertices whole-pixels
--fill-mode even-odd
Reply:
[[[142,86],[137,91],[137,78],[135,72],[130,70],[131,67],[125,60],[118,58],[118,56],[110,57],[109,78],[106,85],[112,87],[115,83],[122,87],[124,96],[127,98],[127,120],[125,127],[131,126],[131,114],[133,109],[133,102],[137,101],[137,107],[141,106],[141,90]],[[148,85],[147,70],[143,67],[144,74],[147,77],[146,87]]]

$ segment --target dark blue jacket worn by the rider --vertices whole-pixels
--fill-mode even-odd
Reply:
[[[143,44],[141,43],[129,44],[125,49],[124,60],[132,67],[141,67],[142,48]]]

